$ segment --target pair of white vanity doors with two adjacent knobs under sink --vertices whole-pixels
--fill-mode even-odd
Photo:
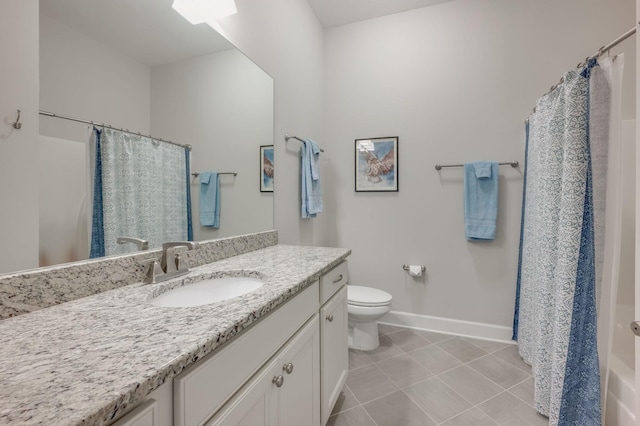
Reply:
[[[206,425],[319,425],[319,333],[316,315]]]

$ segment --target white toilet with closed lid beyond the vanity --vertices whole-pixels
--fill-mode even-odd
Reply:
[[[347,286],[349,347],[371,351],[380,345],[378,319],[391,310],[391,295],[386,291],[357,285]]]

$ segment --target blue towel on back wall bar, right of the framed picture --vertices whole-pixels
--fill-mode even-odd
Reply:
[[[496,162],[464,165],[464,231],[469,241],[496,237],[498,177]]]

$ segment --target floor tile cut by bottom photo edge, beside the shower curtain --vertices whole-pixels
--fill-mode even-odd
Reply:
[[[501,426],[544,426],[549,419],[538,414],[530,405],[520,401],[509,392],[491,398],[478,406],[485,414]]]

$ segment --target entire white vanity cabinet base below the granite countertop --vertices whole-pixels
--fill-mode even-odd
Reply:
[[[112,426],[325,425],[348,371],[347,263]]]

